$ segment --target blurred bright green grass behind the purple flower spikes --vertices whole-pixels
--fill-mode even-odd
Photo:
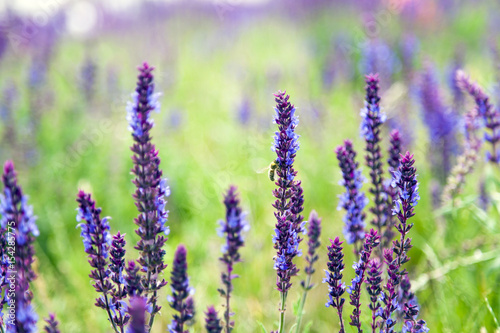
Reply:
[[[467,46],[467,70],[489,82],[492,65],[477,41],[486,29],[481,19],[484,12],[464,9],[460,11],[463,20],[453,21],[447,29],[416,31],[422,43],[419,63],[428,57],[444,70],[459,34]],[[14,159],[19,181],[39,217],[41,235],[35,245],[38,279],[34,283],[39,315],[55,312],[63,332],[110,331],[104,311],[93,306],[97,295],[88,278],[90,269],[79,230],[75,229],[75,198],[79,188],[90,190],[103,215],[112,216],[112,232],[127,234],[127,259],[137,258],[133,249],[138,237],[133,224],[137,212],[131,197],[132,140],[125,102],[135,86],[135,67],[147,60],[157,68],[156,87],[163,92],[162,111],[153,115],[153,140],[172,190],[165,278],[169,279],[176,246],[184,243],[191,283],[196,289],[193,332],[204,331],[202,312],[208,305],[215,304],[222,311],[222,298],[217,293],[221,240],[215,229],[217,220],[224,216],[222,194],[230,184],[238,186],[252,228],[242,250],[244,262],[236,266],[240,278],[234,281],[232,299],[235,331],[258,332],[259,322],[268,331],[277,326],[279,295],[274,288],[275,251],[271,242],[274,185],[265,172],[257,170],[274,158],[270,150],[275,131],[272,93],[278,89],[287,89],[298,107],[301,150],[296,168],[304,187],[305,215],[315,209],[323,218],[320,261],[314,276],[317,287],[308,296],[303,323],[312,323],[310,332],[335,330],[338,320],[334,310],[324,306],[327,287],[321,283],[328,239],[341,236],[343,227],[341,212],[336,210],[342,189],[337,185],[340,171],[333,150],[343,139],[351,138],[361,160],[358,113],[363,82],[357,74],[352,82],[325,91],[320,65],[331,52],[331,37],[341,30],[349,34],[358,26],[356,15],[316,13],[300,24],[284,17],[264,16],[244,26],[213,17],[196,19],[193,26],[182,17],[174,17],[127,34],[103,35],[89,48],[64,39],[55,50],[48,82],[40,91],[43,96],[52,94],[52,102],[43,104],[39,125],[29,131],[29,99],[33,98],[25,87],[29,59],[9,54],[0,71],[20,90],[15,111],[19,136],[14,146],[2,144],[0,156]],[[398,38],[395,31],[400,27],[395,20],[382,29],[381,37]],[[313,45],[318,46],[317,53]],[[84,100],[76,79],[87,53],[98,60],[97,96],[92,102]],[[106,92],[106,73],[111,69],[118,73],[119,93],[114,96]],[[243,126],[237,121],[236,109],[246,96],[253,103],[253,113],[251,123]],[[312,103],[319,105],[319,117],[311,111]],[[177,128],[169,123],[174,109],[180,110],[182,117]],[[414,247],[407,268],[414,281],[423,281],[422,276],[431,276],[428,273],[445,272],[418,290],[420,317],[435,332],[478,332],[481,327],[491,332],[495,328],[492,314],[498,318],[500,312],[500,256],[479,262],[466,259],[498,251],[500,200],[495,194],[494,205],[486,214],[468,199],[475,199],[482,177],[487,177],[490,191],[497,193],[498,169],[481,163],[468,178],[464,204],[452,211],[437,211],[438,203],[430,194],[432,175],[427,164],[425,127],[418,107],[411,106],[410,111],[417,138],[411,150],[416,154],[422,200],[413,219],[415,227],[410,236]],[[35,160],[26,157],[28,148],[36,150]],[[353,276],[353,260],[351,250],[346,248],[347,284]],[[297,263],[304,267],[302,258]],[[301,295],[302,278],[301,272],[293,280],[288,297],[288,327],[294,322],[292,304]],[[168,293],[166,287],[160,294],[163,309],[155,320],[154,332],[164,332],[171,320]],[[362,303],[362,317],[367,318],[366,297]],[[351,306],[346,304],[346,320],[350,311]],[[368,330],[367,326],[363,328]],[[347,332],[351,332],[350,327]]]

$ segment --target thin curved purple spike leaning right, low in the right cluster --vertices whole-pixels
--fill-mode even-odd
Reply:
[[[375,247],[380,244],[380,235],[373,229],[366,234],[365,242],[363,244],[363,250],[360,254],[359,262],[354,263],[352,266],[356,273],[356,276],[352,279],[351,286],[347,287],[347,292],[350,294],[351,302],[350,304],[354,306],[354,310],[351,315],[351,326],[355,326],[358,332],[361,330],[361,322],[359,320],[360,310],[360,297],[361,297],[361,285],[363,284],[365,278],[365,271],[368,267],[368,261]]]

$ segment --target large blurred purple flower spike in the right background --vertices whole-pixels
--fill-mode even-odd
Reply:
[[[427,64],[420,78],[420,103],[424,124],[429,131],[429,159],[439,182],[446,181],[452,154],[457,150],[457,115],[443,104],[435,69]]]

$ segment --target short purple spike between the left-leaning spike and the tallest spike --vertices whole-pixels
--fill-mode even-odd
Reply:
[[[115,283],[115,289],[112,292],[113,299],[111,300],[113,320],[120,328],[130,319],[130,316],[126,313],[127,305],[124,301],[124,298],[127,297],[126,281],[123,275],[125,270],[124,247],[126,243],[124,237],[125,235],[120,234],[120,232],[114,235],[109,251],[111,256],[109,264],[110,278]]]

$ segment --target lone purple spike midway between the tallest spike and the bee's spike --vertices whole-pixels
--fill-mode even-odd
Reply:
[[[243,233],[248,231],[248,224],[241,212],[240,199],[236,191],[236,187],[231,186],[224,196],[226,219],[219,222],[220,229],[218,230],[219,236],[225,238],[225,244],[222,246],[222,257],[219,258],[226,266],[226,271],[221,274],[224,287],[219,288],[218,291],[226,299],[224,321],[227,333],[231,332],[234,327],[234,322],[231,321],[232,313],[229,301],[233,291],[232,281],[238,275],[233,274],[233,266],[241,261],[239,249],[245,244]]]

